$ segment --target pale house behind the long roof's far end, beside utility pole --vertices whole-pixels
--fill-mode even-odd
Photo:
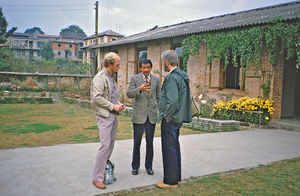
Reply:
[[[123,38],[124,35],[119,34],[117,32],[114,32],[112,30],[103,31],[101,33],[98,33],[98,43],[108,43],[111,41],[119,40]],[[87,63],[93,63],[93,60],[95,59],[95,53],[94,50],[91,49],[92,46],[95,46],[96,44],[96,34],[93,34],[83,40],[83,62]]]

